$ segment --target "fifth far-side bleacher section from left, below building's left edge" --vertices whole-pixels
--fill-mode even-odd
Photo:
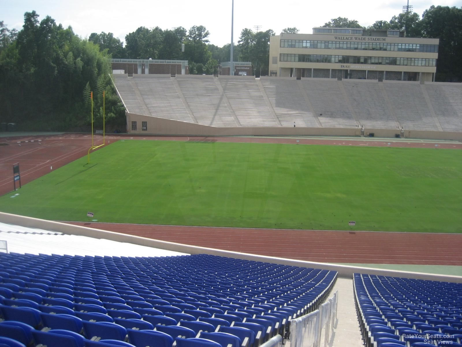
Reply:
[[[297,126],[318,126],[295,78],[261,77],[261,84],[282,126],[293,126],[294,122]]]

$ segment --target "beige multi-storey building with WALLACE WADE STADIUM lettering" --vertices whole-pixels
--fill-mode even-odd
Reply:
[[[270,37],[269,71],[278,77],[435,81],[438,38],[398,30],[313,28]]]

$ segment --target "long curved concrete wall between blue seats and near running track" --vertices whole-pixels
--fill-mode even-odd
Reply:
[[[462,276],[451,276],[451,275],[438,275],[438,274],[429,274],[429,273],[414,273],[406,271],[396,271],[396,270],[383,270],[383,269],[373,269],[368,267],[359,267],[359,266],[346,266],[346,265],[334,265],[328,263],[316,263],[312,261],[303,261],[303,260],[292,260],[286,258],[277,258],[277,257],[268,257],[264,255],[254,255],[248,253],[239,253],[232,251],[223,251],[213,248],[197,247],[197,246],[188,246],[175,242],[166,242],[158,241],[153,239],[148,239],[146,237],[126,235],[111,231],[105,231],[100,229],[86,228],[77,225],[71,225],[66,223],[59,223],[53,221],[46,221],[43,219],[37,219],[32,217],[24,217],[13,215],[9,213],[0,212],[0,220],[3,223],[21,225],[29,228],[39,228],[45,230],[59,231],[67,235],[82,235],[87,237],[93,237],[97,239],[106,239],[118,242],[128,242],[136,245],[142,245],[153,248],[167,249],[170,251],[188,253],[188,254],[212,254],[219,255],[223,257],[230,257],[236,259],[245,259],[245,260],[255,260],[255,261],[265,261],[273,264],[282,264],[282,265],[291,265],[291,266],[301,266],[301,267],[314,267],[323,270],[334,270],[338,271],[339,276],[352,278],[353,273],[369,273],[374,275],[383,275],[383,276],[396,276],[396,277],[406,277],[413,279],[428,279],[433,281],[447,281],[447,282],[456,282],[462,283]],[[379,246],[378,246],[379,247]]]

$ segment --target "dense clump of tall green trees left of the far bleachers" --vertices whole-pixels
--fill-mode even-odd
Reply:
[[[112,85],[108,50],[79,38],[47,16],[24,14],[21,31],[0,22],[0,122],[18,130],[102,129],[103,91],[109,129],[125,130],[124,107]]]

